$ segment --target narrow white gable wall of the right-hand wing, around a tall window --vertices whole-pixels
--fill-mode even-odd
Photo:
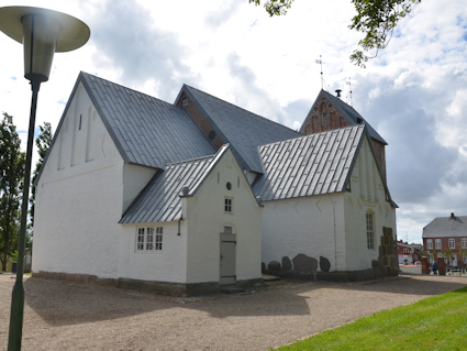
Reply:
[[[352,172],[351,193],[345,193],[347,270],[371,267],[378,260],[382,227],[396,233],[396,210],[386,201],[385,186],[375,157],[365,136],[357,162]],[[375,249],[367,249],[366,213],[370,210],[375,219]]]

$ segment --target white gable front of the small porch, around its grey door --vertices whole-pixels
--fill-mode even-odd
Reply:
[[[218,182],[219,175],[219,182]],[[226,183],[232,184],[227,190]],[[233,198],[233,213],[224,212],[224,197]],[[194,197],[186,199],[188,222],[187,283],[219,282],[220,233],[236,233],[237,281],[260,278],[262,211],[230,150]]]

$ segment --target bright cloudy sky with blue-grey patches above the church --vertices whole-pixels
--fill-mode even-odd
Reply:
[[[22,1],[63,11],[91,29],[89,43],[56,54],[41,87],[37,124],[55,131],[80,70],[173,102],[189,84],[300,128],[321,89],[343,90],[389,143],[388,184],[400,239],[420,242],[435,217],[467,215],[467,7],[422,0],[366,69],[349,63],[362,35],[351,0],[296,0],[269,18],[247,0]],[[0,0],[0,7],[15,6]],[[27,130],[30,86],[21,45],[0,34],[0,110]],[[25,140],[25,135],[23,135]]]

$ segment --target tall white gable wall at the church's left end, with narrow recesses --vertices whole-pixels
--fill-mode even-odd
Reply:
[[[36,187],[34,272],[118,276],[122,168],[79,85]]]

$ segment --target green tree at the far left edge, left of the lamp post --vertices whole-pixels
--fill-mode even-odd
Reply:
[[[22,183],[25,153],[13,118],[3,112],[0,122],[0,260],[2,271],[7,260],[16,250],[20,227]]]

